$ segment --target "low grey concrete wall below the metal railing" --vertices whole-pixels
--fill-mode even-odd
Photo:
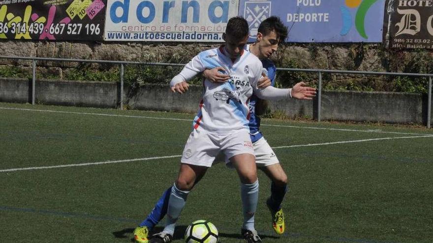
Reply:
[[[35,102],[46,105],[117,108],[120,85],[107,82],[36,81]],[[124,106],[134,109],[195,113],[202,86],[190,86],[187,94],[174,94],[167,85],[125,86]],[[0,79],[0,102],[31,103],[31,81]],[[396,92],[323,91],[322,120],[386,123],[427,123],[426,95]],[[289,117],[317,117],[317,99],[271,102],[273,111]]]

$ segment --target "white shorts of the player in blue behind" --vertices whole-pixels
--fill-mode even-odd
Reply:
[[[259,140],[255,141],[252,146],[254,147],[255,163],[257,167],[266,167],[271,164],[279,163],[274,150],[272,150],[271,146],[264,137],[261,137]],[[215,163],[222,161],[225,161],[227,167],[233,167],[228,157],[224,158],[218,155]]]

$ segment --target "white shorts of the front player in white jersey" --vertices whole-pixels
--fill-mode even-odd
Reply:
[[[254,155],[249,130],[243,129],[230,135],[216,135],[194,129],[186,141],[181,162],[211,167],[219,152],[223,152],[227,158],[239,154]]]

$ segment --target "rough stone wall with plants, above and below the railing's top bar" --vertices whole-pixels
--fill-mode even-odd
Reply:
[[[200,51],[218,46],[198,43],[145,43],[145,42],[53,42],[0,40],[0,52],[4,56],[35,56],[95,60],[123,60],[141,62],[187,63]],[[330,44],[288,43],[282,45],[272,59],[277,67],[334,69],[378,72],[432,73],[433,52],[423,50],[386,49],[382,44]],[[5,65],[27,70],[31,61],[0,59],[0,68]],[[82,68],[76,62],[38,61],[37,73],[48,78],[70,78],[71,72]],[[113,65],[89,64],[86,68],[109,70]],[[80,69],[82,70],[82,69]],[[87,70],[87,69],[86,69]],[[139,73],[132,71],[133,73]],[[171,76],[171,73],[167,73]],[[154,77],[152,74],[151,77]],[[278,82],[283,86],[298,81],[309,81],[317,86],[317,75],[313,73],[278,72]],[[139,81],[139,77],[129,82]],[[165,82],[165,79],[152,82]],[[142,82],[142,81],[139,81]],[[144,81],[146,82],[146,81]],[[348,74],[323,75],[323,88],[328,90],[365,90],[427,92],[427,81],[404,77],[360,76]]]

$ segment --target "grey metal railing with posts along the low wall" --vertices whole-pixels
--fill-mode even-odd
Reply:
[[[159,63],[159,62],[136,62],[136,61],[110,61],[110,60],[88,60],[88,59],[67,59],[51,57],[21,57],[21,56],[0,56],[0,59],[31,60],[32,65],[32,85],[31,85],[31,104],[35,103],[35,82],[37,61],[63,61],[63,62],[87,62],[87,63],[110,63],[120,65],[120,109],[124,109],[124,65],[144,65],[144,66],[185,66],[185,64]],[[348,71],[348,70],[327,70],[327,69],[301,69],[301,68],[277,68],[279,71],[306,72],[318,74],[317,88],[317,121],[321,121],[321,100],[322,100],[322,73],[358,74],[358,75],[385,75],[385,76],[408,76],[408,77],[428,77],[428,108],[427,108],[427,128],[431,128],[432,118],[432,77],[433,74],[415,73],[388,73],[388,72],[367,72],[367,71]]]

